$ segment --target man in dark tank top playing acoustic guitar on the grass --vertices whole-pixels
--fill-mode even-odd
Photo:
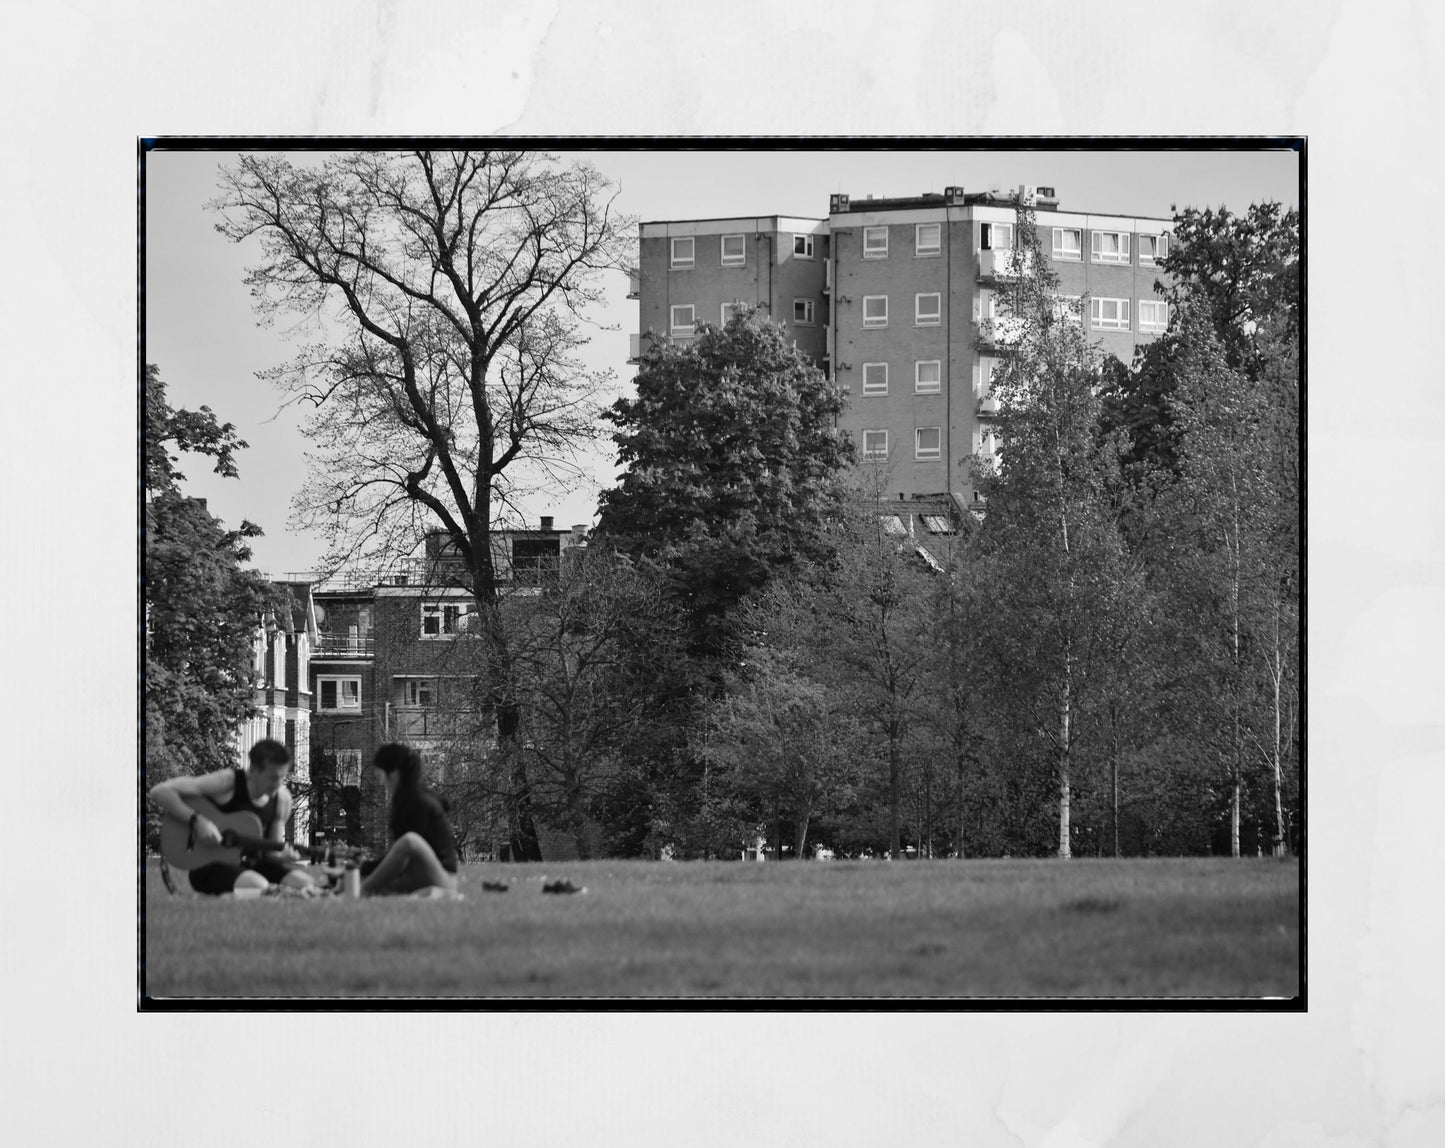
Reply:
[[[221,830],[205,814],[195,813],[186,798],[205,798],[220,813],[253,813],[262,821],[262,837],[282,844],[290,817],[290,750],[280,742],[263,737],[250,749],[246,769],[217,769],[198,778],[171,778],[153,785],[150,800],[178,821],[189,821],[197,844],[221,844]],[[191,888],[198,894],[220,896],[237,889],[267,889],[277,885],[302,892],[315,888],[303,870],[292,868],[299,856],[290,846],[260,856],[243,854],[238,865],[212,862],[189,872]]]

